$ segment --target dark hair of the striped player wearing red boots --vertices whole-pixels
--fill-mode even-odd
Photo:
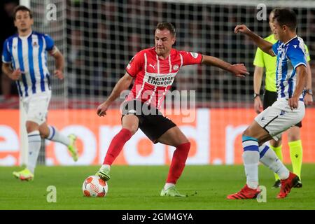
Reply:
[[[279,25],[287,26],[291,31],[296,30],[297,19],[296,14],[293,10],[286,8],[275,8],[272,10],[274,13],[274,21],[279,23]]]

